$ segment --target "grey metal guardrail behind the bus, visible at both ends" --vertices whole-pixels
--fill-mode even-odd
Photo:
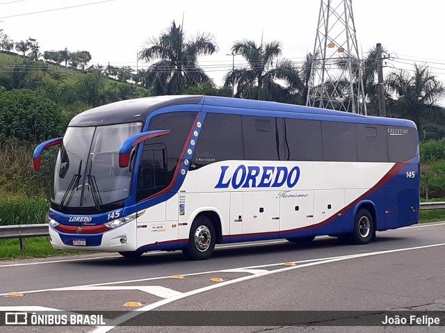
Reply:
[[[421,202],[421,211],[445,209],[445,202]],[[26,250],[25,238],[49,236],[47,223],[39,225],[3,225],[0,226],[0,239],[19,238],[20,249]]]

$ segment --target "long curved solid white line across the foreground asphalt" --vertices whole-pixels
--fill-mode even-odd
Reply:
[[[238,282],[244,282],[244,281],[248,281],[250,279],[257,279],[258,277],[264,277],[267,275],[273,275],[273,274],[277,274],[277,273],[283,273],[286,272],[288,270],[295,270],[295,269],[300,269],[300,268],[305,268],[305,267],[309,267],[309,266],[316,266],[316,265],[322,265],[324,263],[333,263],[336,261],[343,261],[343,260],[348,260],[348,259],[356,259],[356,258],[362,258],[362,257],[371,257],[371,256],[375,256],[375,255],[379,255],[379,254],[389,254],[389,253],[395,253],[395,252],[405,252],[405,251],[410,251],[410,250],[421,250],[421,249],[426,249],[426,248],[430,248],[430,247],[438,247],[438,246],[445,246],[445,243],[439,243],[439,244],[433,244],[433,245],[424,245],[424,246],[416,246],[416,247],[405,247],[403,249],[396,249],[396,250],[386,250],[386,251],[378,251],[378,252],[369,252],[369,253],[363,253],[363,254],[353,254],[350,255],[348,257],[343,257],[343,258],[337,258],[337,259],[328,259],[328,260],[322,260],[322,261],[316,261],[314,263],[305,263],[302,264],[300,266],[291,266],[291,267],[286,267],[286,268],[280,268],[277,270],[270,270],[264,273],[260,273],[260,274],[255,274],[255,275],[248,275],[245,277],[240,277],[238,279],[232,279],[226,282],[221,282],[219,284],[212,284],[210,286],[206,286],[204,288],[200,288],[200,289],[195,289],[193,291],[188,291],[186,293],[183,293],[182,295],[179,295],[177,297],[173,297],[173,298],[168,298],[166,300],[161,300],[159,302],[155,302],[149,305],[146,305],[145,307],[141,307],[140,309],[134,310],[129,312],[128,314],[124,314],[123,316],[120,316],[118,318],[115,318],[115,320],[111,321],[111,325],[110,326],[102,326],[102,327],[97,327],[97,329],[91,331],[91,333],[106,333],[109,330],[113,330],[113,328],[115,328],[116,326],[132,319],[135,318],[136,316],[139,316],[140,314],[143,314],[146,311],[150,311],[152,309],[156,309],[158,307],[162,307],[165,304],[169,304],[171,302],[175,302],[176,300],[181,300],[182,298],[186,298],[188,296],[191,295],[196,295],[198,293],[204,293],[205,291],[209,291],[212,289],[217,289],[217,288],[221,288],[223,286],[228,286],[229,284],[235,284]]]

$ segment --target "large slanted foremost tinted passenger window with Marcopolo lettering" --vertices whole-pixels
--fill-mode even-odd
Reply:
[[[242,159],[241,115],[207,113],[193,153],[190,170],[214,162]]]

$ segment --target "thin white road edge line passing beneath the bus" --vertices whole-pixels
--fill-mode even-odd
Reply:
[[[439,227],[441,225],[445,225],[445,222],[432,222],[432,223],[425,223],[421,225],[412,225],[410,227],[402,227],[394,230],[403,230],[403,229],[415,229],[415,228],[426,228],[426,227]],[[387,230],[387,231],[393,231]],[[329,238],[329,236],[317,236],[317,239],[320,238]],[[248,243],[248,244],[236,244],[236,245],[217,245],[217,249],[228,249],[228,248],[236,248],[236,247],[245,247],[245,246],[252,246],[252,245],[268,245],[268,244],[277,244],[277,243],[289,243],[288,241],[269,241],[269,242],[262,242],[262,243]],[[155,254],[165,254],[163,251],[154,251],[144,254],[143,256],[150,256]],[[87,261],[87,260],[97,260],[97,259],[108,259],[108,258],[121,258],[120,255],[109,255],[109,256],[102,256],[102,257],[92,257],[92,258],[78,258],[78,259],[62,259],[62,260],[51,260],[51,261],[39,261],[39,262],[32,262],[32,263],[8,263],[5,265],[0,265],[0,268],[3,267],[15,267],[15,266],[29,266],[29,265],[42,265],[44,263],[64,263],[64,262],[70,262],[70,261]]]

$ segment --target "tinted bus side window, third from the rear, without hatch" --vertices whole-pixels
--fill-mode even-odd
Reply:
[[[357,161],[355,124],[348,122],[321,122],[324,161]]]

